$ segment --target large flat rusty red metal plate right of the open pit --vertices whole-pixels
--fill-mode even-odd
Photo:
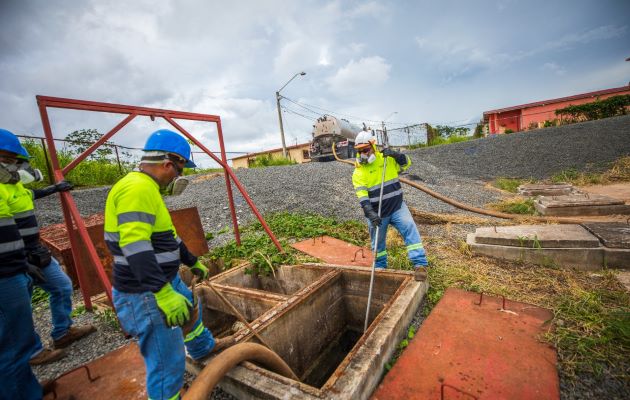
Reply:
[[[447,289],[372,399],[559,399],[552,313]]]

